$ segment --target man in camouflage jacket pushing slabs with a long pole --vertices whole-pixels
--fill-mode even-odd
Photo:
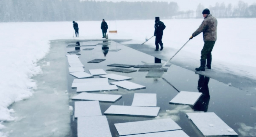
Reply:
[[[196,68],[196,71],[205,71],[205,64],[207,59],[207,68],[211,69],[212,63],[212,48],[217,40],[217,19],[210,14],[209,9],[204,9],[202,12],[204,16],[204,21],[199,26],[199,28],[192,34],[189,39],[196,37],[198,34],[203,32],[204,36],[204,47],[201,51],[201,65]]]

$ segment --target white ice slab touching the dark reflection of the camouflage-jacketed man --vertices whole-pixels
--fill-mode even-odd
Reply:
[[[200,92],[180,91],[170,103],[194,105],[201,95],[202,93]]]

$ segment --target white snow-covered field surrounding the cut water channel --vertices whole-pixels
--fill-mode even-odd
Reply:
[[[164,47],[179,49],[202,20],[203,18],[162,20],[166,25],[162,39]],[[77,23],[80,32],[80,37],[77,39],[101,39],[101,21],[77,21]],[[107,23],[109,25],[109,21]],[[253,63],[256,58],[255,23],[256,19],[218,19],[218,38],[212,51],[214,69],[256,79],[256,64]],[[150,38],[154,34],[154,20],[116,21],[116,25],[111,22],[108,30],[115,30],[117,27],[118,33],[108,33],[108,37],[132,39],[125,44],[141,44],[145,41],[145,37]],[[37,61],[48,53],[49,40],[72,39],[73,26],[72,21],[0,23],[0,26],[2,71],[0,74],[2,79],[0,82],[2,88],[0,90],[0,136],[2,136],[1,129],[4,126],[1,121],[17,119],[10,116],[10,113],[15,110],[9,110],[8,106],[29,98],[33,94],[33,89],[37,88],[37,83],[31,77],[41,73]],[[151,39],[146,44],[154,47],[155,40]],[[194,67],[200,65],[203,44],[202,34],[199,34],[182,49],[186,51],[186,56],[192,59],[189,63]],[[175,57],[174,59],[183,61],[184,58]]]

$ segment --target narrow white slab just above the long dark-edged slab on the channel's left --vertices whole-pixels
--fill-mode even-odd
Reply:
[[[96,92],[96,91],[108,91],[118,90],[116,85],[103,85],[103,86],[78,86],[76,92]]]

